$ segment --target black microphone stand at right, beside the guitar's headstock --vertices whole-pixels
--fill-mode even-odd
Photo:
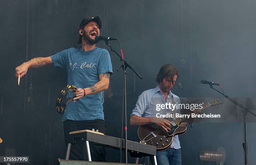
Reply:
[[[251,113],[253,116],[256,117],[256,114],[251,112],[251,110],[248,110],[246,107],[244,107],[241,103],[237,102],[236,100],[233,100],[232,98],[228,97],[228,95],[225,95],[224,93],[220,92],[219,90],[216,90],[215,87],[213,87],[212,85],[210,85],[210,88],[212,88],[213,90],[219,92],[221,95],[225,96],[230,102],[232,102],[233,104],[235,104],[238,107],[241,107],[243,110],[243,138],[244,138],[244,142],[243,142],[243,151],[244,151],[244,164],[248,165],[248,148],[247,148],[247,137],[246,137],[246,115],[247,113]]]

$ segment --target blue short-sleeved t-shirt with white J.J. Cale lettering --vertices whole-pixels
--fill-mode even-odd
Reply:
[[[112,71],[108,50],[95,47],[90,51],[79,48],[69,48],[51,56],[55,67],[67,68],[68,85],[86,88],[100,81],[101,73]],[[67,97],[73,97],[72,92]],[[77,102],[70,102],[66,107],[62,121],[65,120],[104,120],[102,92],[87,95]]]

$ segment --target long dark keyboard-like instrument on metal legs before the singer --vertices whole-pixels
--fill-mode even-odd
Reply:
[[[89,142],[97,143],[98,145],[124,149],[124,140],[120,138],[115,138],[113,136],[104,135],[99,133],[97,130],[79,130],[70,132],[68,135],[68,147],[66,153],[66,160],[69,160],[69,153],[72,144],[76,143],[76,139],[81,139],[82,142],[86,144],[88,160],[91,162],[91,153]],[[127,150],[130,152],[131,157],[141,158],[144,156],[154,156],[154,161],[156,163],[156,147],[151,145],[146,145],[143,143],[133,142],[127,140]],[[136,159],[136,162],[137,162]],[[157,165],[157,163],[155,164]]]

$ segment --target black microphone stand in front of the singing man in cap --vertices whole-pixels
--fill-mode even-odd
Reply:
[[[122,58],[122,56],[120,56],[118,54],[118,52],[116,52],[115,49],[113,49],[113,47],[111,47],[110,43],[108,41],[105,41],[105,44],[108,45],[108,47],[110,47],[112,52],[115,52],[116,55],[118,55],[118,57],[120,58],[121,61],[123,61],[123,64],[121,64],[121,66],[119,67],[119,69],[122,67],[123,68],[123,107],[124,107],[124,111],[125,111],[125,123],[124,123],[124,130],[125,130],[125,163],[128,163],[128,157],[127,157],[127,111],[126,111],[126,68],[129,67],[140,79],[142,79],[141,75],[136,72],[133,67],[131,65],[128,64],[128,62],[126,62],[125,59]],[[119,69],[117,71],[119,71]],[[121,144],[122,144],[121,140]],[[121,150],[122,150],[122,146],[120,146]]]

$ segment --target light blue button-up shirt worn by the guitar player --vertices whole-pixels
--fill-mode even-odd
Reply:
[[[172,109],[161,109],[159,111],[156,110],[157,104],[165,104],[171,103],[172,99],[174,98],[175,104],[180,104],[180,99],[177,95],[174,95],[171,91],[168,94],[167,99],[165,100],[164,94],[161,92],[159,86],[157,85],[155,88],[146,90],[141,93],[141,95],[138,97],[138,101],[136,102],[135,108],[133,109],[133,112],[131,115],[136,115],[139,117],[156,117],[157,113],[160,113],[161,115],[165,115],[168,113],[173,113],[174,111]],[[180,113],[179,109],[176,109],[177,113]],[[179,149],[179,137],[178,135],[174,136],[171,148]]]

